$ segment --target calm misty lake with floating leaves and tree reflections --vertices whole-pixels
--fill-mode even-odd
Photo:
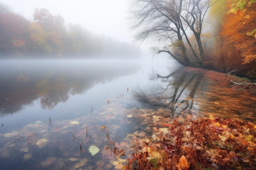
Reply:
[[[133,140],[150,137],[156,122],[214,115],[256,123],[254,92],[217,88],[167,57],[0,63],[2,170],[121,169],[114,152],[132,157]]]

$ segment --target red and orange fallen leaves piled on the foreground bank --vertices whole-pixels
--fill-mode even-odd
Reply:
[[[153,115],[155,112],[152,110]],[[152,122],[152,117],[141,118]],[[127,135],[134,156],[126,169],[256,169],[256,125],[251,122],[213,115],[191,119],[189,115],[167,122],[153,121],[153,125],[151,130],[145,128],[148,137],[143,139],[136,133],[133,140]]]

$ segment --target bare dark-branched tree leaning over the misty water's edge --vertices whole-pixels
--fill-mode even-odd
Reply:
[[[182,65],[201,66],[205,54],[200,35],[204,17],[214,2],[216,0],[135,0],[132,29],[139,29],[136,40],[150,37],[168,40],[170,45],[157,49],[157,53],[169,53]],[[196,44],[189,40],[191,35]],[[187,55],[188,48],[193,56]]]

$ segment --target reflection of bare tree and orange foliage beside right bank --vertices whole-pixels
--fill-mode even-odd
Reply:
[[[203,70],[195,72],[181,67],[167,76],[151,74],[150,77],[150,86],[138,87],[135,92],[135,98],[143,103],[137,107],[166,108],[172,118],[212,114],[256,122],[255,93],[221,87],[207,79]]]

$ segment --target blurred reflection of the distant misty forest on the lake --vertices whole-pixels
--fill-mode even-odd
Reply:
[[[1,61],[0,114],[18,113],[40,98],[43,109],[67,102],[96,84],[136,73],[138,62],[100,60]]]

